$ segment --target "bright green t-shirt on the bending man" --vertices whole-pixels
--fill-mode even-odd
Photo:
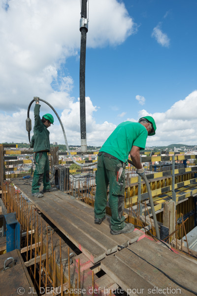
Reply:
[[[119,124],[100,148],[100,151],[109,153],[127,163],[132,146],[146,147],[148,132],[138,122],[125,121]]]

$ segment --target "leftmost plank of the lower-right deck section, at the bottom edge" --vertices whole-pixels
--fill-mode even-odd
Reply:
[[[142,282],[141,276],[113,255],[103,259],[100,266],[130,296],[142,295],[143,293],[147,295],[148,289],[154,288],[147,281]],[[135,289],[135,293],[133,293],[133,289]],[[138,293],[136,293],[137,289]],[[123,294],[124,291],[120,291],[120,293]]]

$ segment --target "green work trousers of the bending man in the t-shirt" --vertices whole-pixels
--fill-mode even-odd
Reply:
[[[109,206],[111,209],[111,228],[115,231],[123,229],[125,217],[125,167],[126,164],[119,159],[98,156],[98,169],[96,175],[95,218],[103,218],[106,213],[107,187],[109,185]],[[123,168],[121,177],[117,182],[117,174]]]

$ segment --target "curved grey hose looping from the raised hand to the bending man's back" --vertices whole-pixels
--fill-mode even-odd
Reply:
[[[47,104],[47,105],[48,105],[48,106],[54,111],[54,113],[56,114],[56,116],[58,117],[58,120],[60,121],[60,125],[61,125],[61,127],[62,127],[62,131],[63,131],[63,134],[64,134],[65,144],[66,144],[66,149],[67,149],[68,155],[70,156],[70,158],[72,159],[72,161],[73,161],[75,164],[77,164],[77,165],[79,165],[79,166],[81,166],[81,167],[88,167],[88,166],[96,165],[96,164],[97,164],[97,161],[94,162],[94,163],[85,163],[85,164],[83,164],[83,163],[78,163],[76,160],[73,159],[73,157],[72,157],[72,155],[71,155],[71,153],[70,153],[70,150],[69,150],[69,148],[68,148],[65,129],[64,129],[64,126],[63,126],[63,124],[62,124],[62,121],[61,121],[61,119],[60,119],[58,113],[55,111],[55,109],[54,109],[54,108],[51,106],[51,104],[49,104],[48,102],[46,102],[46,101],[44,101],[44,100],[42,100],[42,99],[40,99],[40,98],[39,98],[39,101],[42,101],[42,102],[44,102],[45,104]],[[28,107],[28,118],[30,118],[30,108],[31,108],[33,102],[34,102],[34,100],[32,100],[32,101],[30,102],[30,105],[29,105],[29,107]],[[29,141],[30,141],[30,131],[28,131],[28,137],[29,137]],[[30,141],[30,142],[31,142],[31,141]]]

